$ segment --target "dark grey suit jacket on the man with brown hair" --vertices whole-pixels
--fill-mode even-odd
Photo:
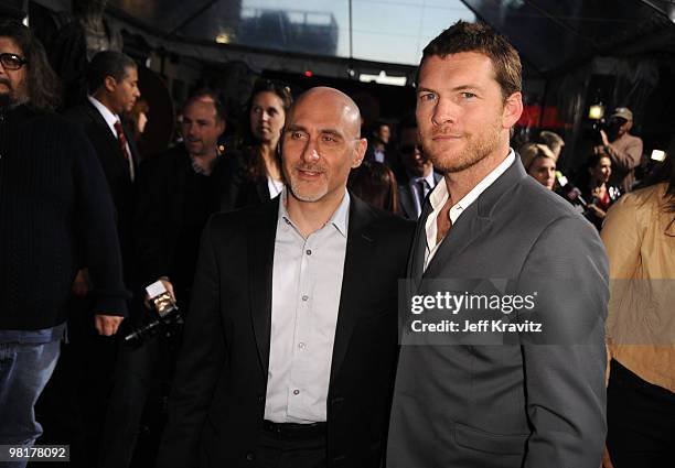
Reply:
[[[499,346],[404,340],[387,467],[597,468],[609,292],[596,230],[527,176],[517,157],[459,217],[422,273],[430,211],[427,202],[410,289],[431,294],[431,279],[506,279],[507,292],[536,287],[537,318],[548,330],[539,342]]]

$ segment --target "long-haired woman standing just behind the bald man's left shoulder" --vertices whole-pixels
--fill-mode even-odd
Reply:
[[[288,86],[267,79],[254,85],[246,106],[239,167],[233,183],[233,208],[275,198],[283,189],[277,145],[291,104]]]

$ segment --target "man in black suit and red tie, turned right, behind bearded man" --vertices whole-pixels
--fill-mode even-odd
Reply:
[[[125,130],[120,115],[130,110],[140,96],[137,65],[120,52],[100,52],[88,66],[87,81],[87,100],[66,111],[66,117],[83,128],[104,170],[115,208],[124,281],[127,289],[133,289],[137,151],[132,132]],[[104,336],[92,330],[88,313],[93,287],[96,285],[90,284],[87,265],[82,264],[73,284],[75,296],[68,322],[71,345],[63,353],[60,364],[63,370],[57,369],[57,379],[67,382],[68,387],[77,387],[74,392],[77,396],[63,405],[67,416],[61,421],[72,425],[73,435],[68,440],[72,465],[83,467],[96,464],[117,355],[117,341],[110,336],[117,333],[122,320],[122,317],[96,316],[96,328]]]

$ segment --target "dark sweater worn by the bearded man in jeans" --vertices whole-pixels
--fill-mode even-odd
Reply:
[[[114,207],[86,135],[56,115],[0,108],[0,329],[63,323],[78,264],[94,312],[127,315]]]

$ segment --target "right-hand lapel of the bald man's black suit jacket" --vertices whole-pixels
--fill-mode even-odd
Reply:
[[[350,225],[331,362],[331,388],[344,361],[352,330],[358,319],[360,303],[367,294],[365,290],[369,270],[368,259],[371,259],[368,252],[375,243],[375,239],[366,229],[372,219],[369,208],[354,195],[350,196]]]

